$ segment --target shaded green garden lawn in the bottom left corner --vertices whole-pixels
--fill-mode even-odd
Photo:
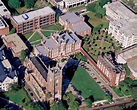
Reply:
[[[34,104],[24,88],[9,90],[4,93],[9,100],[25,108],[26,110],[44,110],[39,104]]]

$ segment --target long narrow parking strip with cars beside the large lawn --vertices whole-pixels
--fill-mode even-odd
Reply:
[[[119,96],[110,88],[109,82],[104,79],[101,74],[98,74],[91,65],[86,62],[80,62],[79,66],[83,67],[89,73],[107,95],[110,97],[113,96],[113,99],[119,98]]]

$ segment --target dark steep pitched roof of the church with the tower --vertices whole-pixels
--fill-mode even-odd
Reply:
[[[48,70],[38,57],[31,57],[32,63],[36,66],[42,77],[47,81]]]

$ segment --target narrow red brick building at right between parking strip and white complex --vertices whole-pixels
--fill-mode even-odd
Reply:
[[[109,81],[110,86],[118,86],[126,78],[122,65],[117,64],[110,54],[99,56],[97,66],[102,75]]]

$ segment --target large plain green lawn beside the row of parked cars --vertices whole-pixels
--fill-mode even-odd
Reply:
[[[78,67],[75,72],[72,84],[82,92],[84,98],[93,95],[95,101],[106,99],[103,90],[82,67]]]

